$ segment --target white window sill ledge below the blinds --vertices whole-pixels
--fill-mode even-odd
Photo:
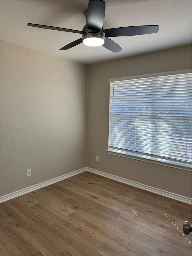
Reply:
[[[171,160],[166,160],[166,159],[147,156],[147,155],[140,155],[137,153],[131,153],[131,152],[122,151],[122,150],[118,150],[118,149],[108,149],[107,152],[110,155],[127,157],[127,158],[131,158],[131,159],[135,159],[135,160],[139,160],[139,161],[143,161],[143,162],[163,165],[163,166],[176,168],[176,169],[180,169],[180,170],[185,170],[185,171],[189,171],[189,172],[192,171],[191,164],[184,164],[184,163],[180,163],[177,161],[171,161]]]

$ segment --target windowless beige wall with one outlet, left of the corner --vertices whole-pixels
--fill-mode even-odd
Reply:
[[[86,108],[85,65],[1,41],[1,196],[86,166]]]

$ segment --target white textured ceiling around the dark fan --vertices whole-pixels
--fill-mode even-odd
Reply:
[[[102,46],[80,44],[69,50],[61,47],[81,34],[27,26],[36,23],[82,30],[88,1],[0,1],[1,40],[19,44],[65,59],[92,64],[191,43],[191,1],[106,1],[104,28],[159,25],[159,32],[128,40],[111,38],[122,47],[113,53]]]

